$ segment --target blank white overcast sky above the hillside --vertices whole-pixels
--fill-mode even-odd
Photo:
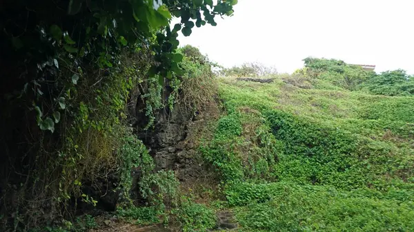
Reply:
[[[259,61],[293,72],[314,56],[414,74],[413,10],[412,0],[239,0],[233,17],[179,41],[226,67]]]

